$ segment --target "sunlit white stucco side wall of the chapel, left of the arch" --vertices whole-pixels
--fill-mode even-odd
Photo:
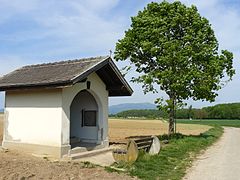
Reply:
[[[7,92],[4,141],[61,146],[61,92]]]

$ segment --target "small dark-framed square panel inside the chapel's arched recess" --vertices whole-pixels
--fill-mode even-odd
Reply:
[[[96,126],[97,125],[97,111],[82,110],[82,126]]]

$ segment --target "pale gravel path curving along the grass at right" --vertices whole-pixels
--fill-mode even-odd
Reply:
[[[240,128],[224,128],[220,141],[198,157],[183,179],[239,180]]]

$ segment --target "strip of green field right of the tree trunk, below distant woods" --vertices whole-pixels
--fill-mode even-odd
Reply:
[[[177,123],[240,127],[240,120],[177,120]]]

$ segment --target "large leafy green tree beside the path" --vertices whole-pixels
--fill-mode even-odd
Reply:
[[[130,29],[116,44],[114,58],[135,65],[140,74],[132,80],[143,83],[144,93],[165,91],[172,134],[179,103],[189,98],[212,102],[232,79],[233,54],[219,52],[209,21],[195,6],[153,2],[131,20]],[[156,102],[162,107],[162,98]]]

